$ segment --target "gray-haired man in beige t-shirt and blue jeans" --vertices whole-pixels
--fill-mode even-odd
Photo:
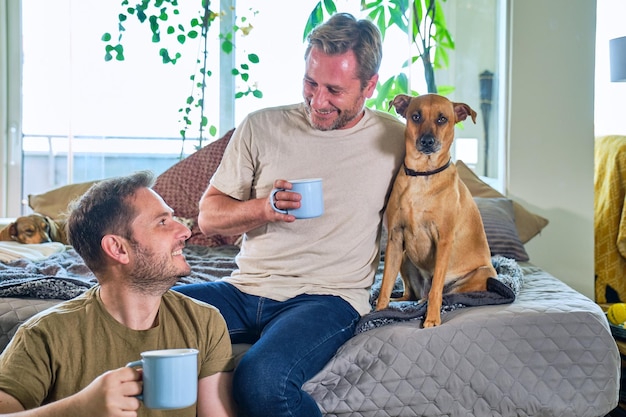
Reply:
[[[382,217],[404,155],[404,124],[365,108],[382,57],[374,24],[336,14],[309,36],[302,103],[250,114],[200,201],[207,234],[243,234],[239,269],[177,288],[215,305],[234,343],[242,416],[321,416],[302,385],[370,311]],[[324,214],[298,219],[289,179],[322,178]],[[270,196],[272,189],[284,191]],[[278,209],[275,211],[274,204]]]

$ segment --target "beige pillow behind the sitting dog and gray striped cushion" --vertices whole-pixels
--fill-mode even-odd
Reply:
[[[472,197],[506,198],[505,195],[482,181],[463,161],[458,160],[455,165],[461,180],[469,188]],[[513,212],[515,213],[515,227],[522,243],[526,243],[537,236],[548,225],[548,219],[531,213],[515,201],[513,201]]]

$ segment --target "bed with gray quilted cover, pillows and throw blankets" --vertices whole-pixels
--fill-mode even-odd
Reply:
[[[208,181],[227,141],[159,176],[155,189],[178,215],[193,217],[196,205],[189,212],[182,205],[197,201],[206,186],[189,180],[188,170],[205,170]],[[479,205],[498,271],[489,291],[446,296],[436,328],[421,327],[420,303],[373,311],[304,389],[325,416],[606,415],[618,403],[620,355],[602,309],[528,259],[523,244],[547,220],[491,189],[461,161],[457,169]],[[33,210],[46,210],[36,200]],[[192,227],[185,255],[193,272],[177,285],[228,275],[236,243],[236,236],[207,238]],[[0,350],[24,320],[95,283],[71,247],[14,256],[0,262]],[[372,303],[383,266],[384,252]],[[234,348],[245,354],[246,346]]]

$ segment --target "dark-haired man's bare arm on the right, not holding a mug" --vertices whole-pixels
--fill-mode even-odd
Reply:
[[[232,372],[218,372],[198,381],[198,417],[235,417]]]

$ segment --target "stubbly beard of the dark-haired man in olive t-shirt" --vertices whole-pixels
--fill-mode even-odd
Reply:
[[[148,249],[132,242],[135,251],[134,268],[129,272],[129,284],[137,292],[146,295],[162,295],[178,281],[191,273],[172,264],[170,257],[157,257]]]

